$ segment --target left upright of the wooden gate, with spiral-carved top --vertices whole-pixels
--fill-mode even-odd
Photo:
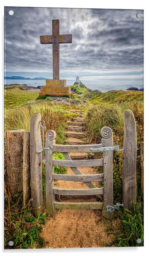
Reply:
[[[53,180],[53,159],[54,153],[52,152],[53,145],[55,145],[56,133],[54,130],[48,130],[46,133],[45,147],[49,148],[45,153],[45,172],[46,172],[46,212],[51,216],[55,215],[54,209],[55,195],[53,194],[54,180]]]

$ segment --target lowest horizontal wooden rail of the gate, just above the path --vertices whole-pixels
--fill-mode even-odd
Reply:
[[[56,209],[102,209],[103,202],[75,202],[75,203],[62,203],[54,202],[54,208]]]

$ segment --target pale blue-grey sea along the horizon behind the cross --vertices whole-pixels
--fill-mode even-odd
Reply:
[[[67,80],[67,85],[73,85],[74,80]],[[111,91],[111,90],[124,90],[128,89],[129,87],[136,87],[138,89],[143,88],[141,81],[82,81],[85,86],[91,90],[99,90],[102,92]],[[37,87],[39,85],[45,85],[45,80],[19,80],[19,79],[5,79],[5,84],[27,84],[30,86]]]

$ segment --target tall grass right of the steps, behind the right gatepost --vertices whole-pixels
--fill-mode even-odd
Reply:
[[[143,140],[143,102],[123,104],[107,104],[90,108],[86,116],[86,131],[88,143],[99,143],[101,140],[100,130],[104,126],[112,128],[114,133],[114,144],[123,145],[123,114],[125,109],[131,109],[136,119],[139,140]]]

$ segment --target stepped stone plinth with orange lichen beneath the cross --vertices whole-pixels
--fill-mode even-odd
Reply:
[[[40,86],[40,96],[71,96],[71,86],[66,86],[66,80],[47,79],[46,85]]]

